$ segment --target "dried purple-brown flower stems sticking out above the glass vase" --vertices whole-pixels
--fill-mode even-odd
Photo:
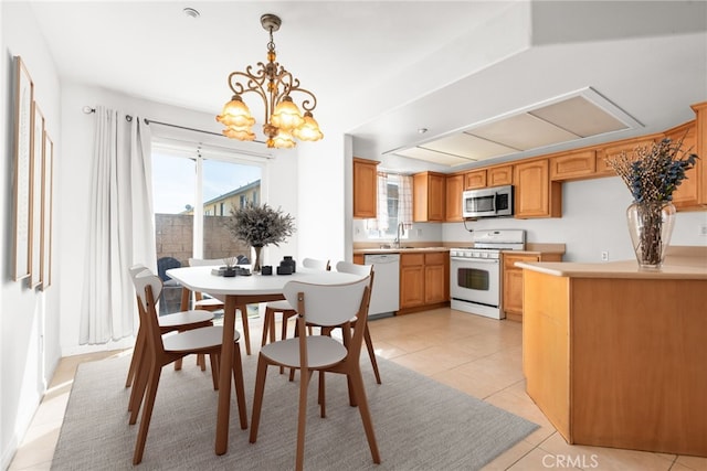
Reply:
[[[629,156],[625,151],[606,163],[629,188],[636,203],[672,201],[673,192],[695,167],[697,154],[682,151],[683,139],[663,139],[651,147],[640,147]]]

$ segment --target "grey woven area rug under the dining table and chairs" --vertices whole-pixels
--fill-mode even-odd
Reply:
[[[244,355],[251,418],[256,354]],[[78,366],[53,470],[287,470],[295,464],[298,377],[271,367],[256,443],[241,430],[232,400],[229,450],[214,453],[217,397],[209,370],[191,361],[162,370],[143,462],[133,467],[137,426],[128,425],[129,356]],[[358,409],[348,405],[346,378],[327,376],[327,418],[319,417],[317,383],[309,387],[307,470],[475,470],[538,426],[483,400],[379,358],[376,384],[367,356],[363,379],[382,463],[373,464]]]

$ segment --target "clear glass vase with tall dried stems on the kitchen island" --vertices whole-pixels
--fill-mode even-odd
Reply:
[[[663,265],[675,222],[673,192],[698,159],[689,149],[682,151],[682,147],[683,139],[676,142],[663,139],[650,147],[636,148],[632,156],[622,152],[606,159],[633,196],[626,217],[642,269],[659,269]]]

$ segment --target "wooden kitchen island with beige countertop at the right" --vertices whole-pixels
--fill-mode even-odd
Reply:
[[[527,393],[569,443],[707,457],[707,247],[524,269]]]

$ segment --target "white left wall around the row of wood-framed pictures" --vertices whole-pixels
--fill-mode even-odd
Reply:
[[[36,409],[59,361],[59,311],[61,280],[54,270],[46,291],[29,289],[25,281],[12,281],[14,244],[14,150],[13,78],[14,55],[22,56],[35,89],[35,100],[54,142],[54,158],[62,156],[61,84],[31,7],[27,2],[0,2],[0,467],[7,468]],[[54,244],[53,254],[56,254]],[[54,266],[56,257],[54,256]]]

